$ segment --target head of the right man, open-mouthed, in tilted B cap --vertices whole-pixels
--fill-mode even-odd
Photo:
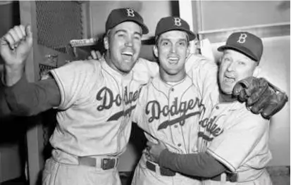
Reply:
[[[242,34],[240,40],[235,39]],[[244,35],[252,37],[248,39],[248,48],[243,48]],[[240,45],[240,42],[242,44]],[[252,43],[249,43],[252,42]],[[220,72],[218,73],[218,82],[223,94],[233,94],[233,87],[241,79],[259,74],[259,60],[263,53],[263,46],[256,47],[257,43],[261,43],[259,37],[249,33],[240,33],[230,35],[228,44],[218,48],[218,51],[223,51],[223,56],[220,63]],[[241,46],[241,47],[240,47]]]

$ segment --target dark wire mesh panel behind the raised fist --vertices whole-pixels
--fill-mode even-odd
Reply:
[[[82,4],[78,1],[35,1],[37,43],[66,53],[71,39],[82,39]]]

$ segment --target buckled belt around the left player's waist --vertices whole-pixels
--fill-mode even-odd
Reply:
[[[78,157],[79,165],[89,167],[101,167],[103,170],[109,170],[118,165],[118,158],[93,158],[93,157]]]

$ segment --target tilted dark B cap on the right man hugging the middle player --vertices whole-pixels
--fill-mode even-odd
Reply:
[[[225,49],[239,51],[256,62],[259,62],[263,53],[263,42],[259,37],[249,32],[235,32],[230,34],[226,44],[218,47],[217,50],[224,51]]]

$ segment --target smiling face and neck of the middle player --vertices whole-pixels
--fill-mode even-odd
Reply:
[[[167,82],[185,77],[185,60],[189,54],[187,33],[173,30],[159,36],[154,55],[159,58],[160,75]]]

